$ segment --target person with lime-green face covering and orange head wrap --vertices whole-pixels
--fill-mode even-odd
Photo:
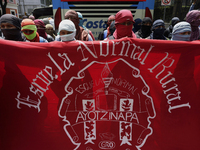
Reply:
[[[30,42],[48,42],[43,37],[39,36],[37,33],[37,27],[33,20],[31,19],[24,19],[21,22],[22,32],[26,39]]]

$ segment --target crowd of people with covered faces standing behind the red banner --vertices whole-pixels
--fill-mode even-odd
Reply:
[[[193,6],[193,5],[192,5]],[[34,16],[19,19],[11,14],[0,17],[2,38],[5,40],[27,42],[53,42],[53,41],[94,41],[92,32],[83,25],[81,12],[68,10],[65,19],[59,24],[56,33],[52,18],[35,19]],[[162,19],[153,21],[149,17],[133,19],[130,10],[120,10],[110,15],[107,28],[98,36],[98,40],[112,40],[124,37],[158,40],[194,41],[200,39],[200,11],[191,7],[181,21],[173,17],[166,29]]]

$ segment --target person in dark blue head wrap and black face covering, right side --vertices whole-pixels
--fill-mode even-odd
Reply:
[[[147,39],[157,39],[157,40],[168,40],[164,36],[165,23],[162,19],[157,19],[154,21],[152,26],[152,33]]]

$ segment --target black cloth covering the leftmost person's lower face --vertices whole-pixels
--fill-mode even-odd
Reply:
[[[6,40],[22,41],[21,31],[19,29],[1,29]]]

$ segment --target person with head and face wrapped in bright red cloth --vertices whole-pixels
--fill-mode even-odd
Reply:
[[[136,38],[136,35],[132,31],[134,23],[135,21],[133,20],[133,15],[130,10],[120,10],[115,15],[116,30],[113,33],[113,36],[110,36],[109,38],[107,38],[107,40],[120,39],[124,37]]]

